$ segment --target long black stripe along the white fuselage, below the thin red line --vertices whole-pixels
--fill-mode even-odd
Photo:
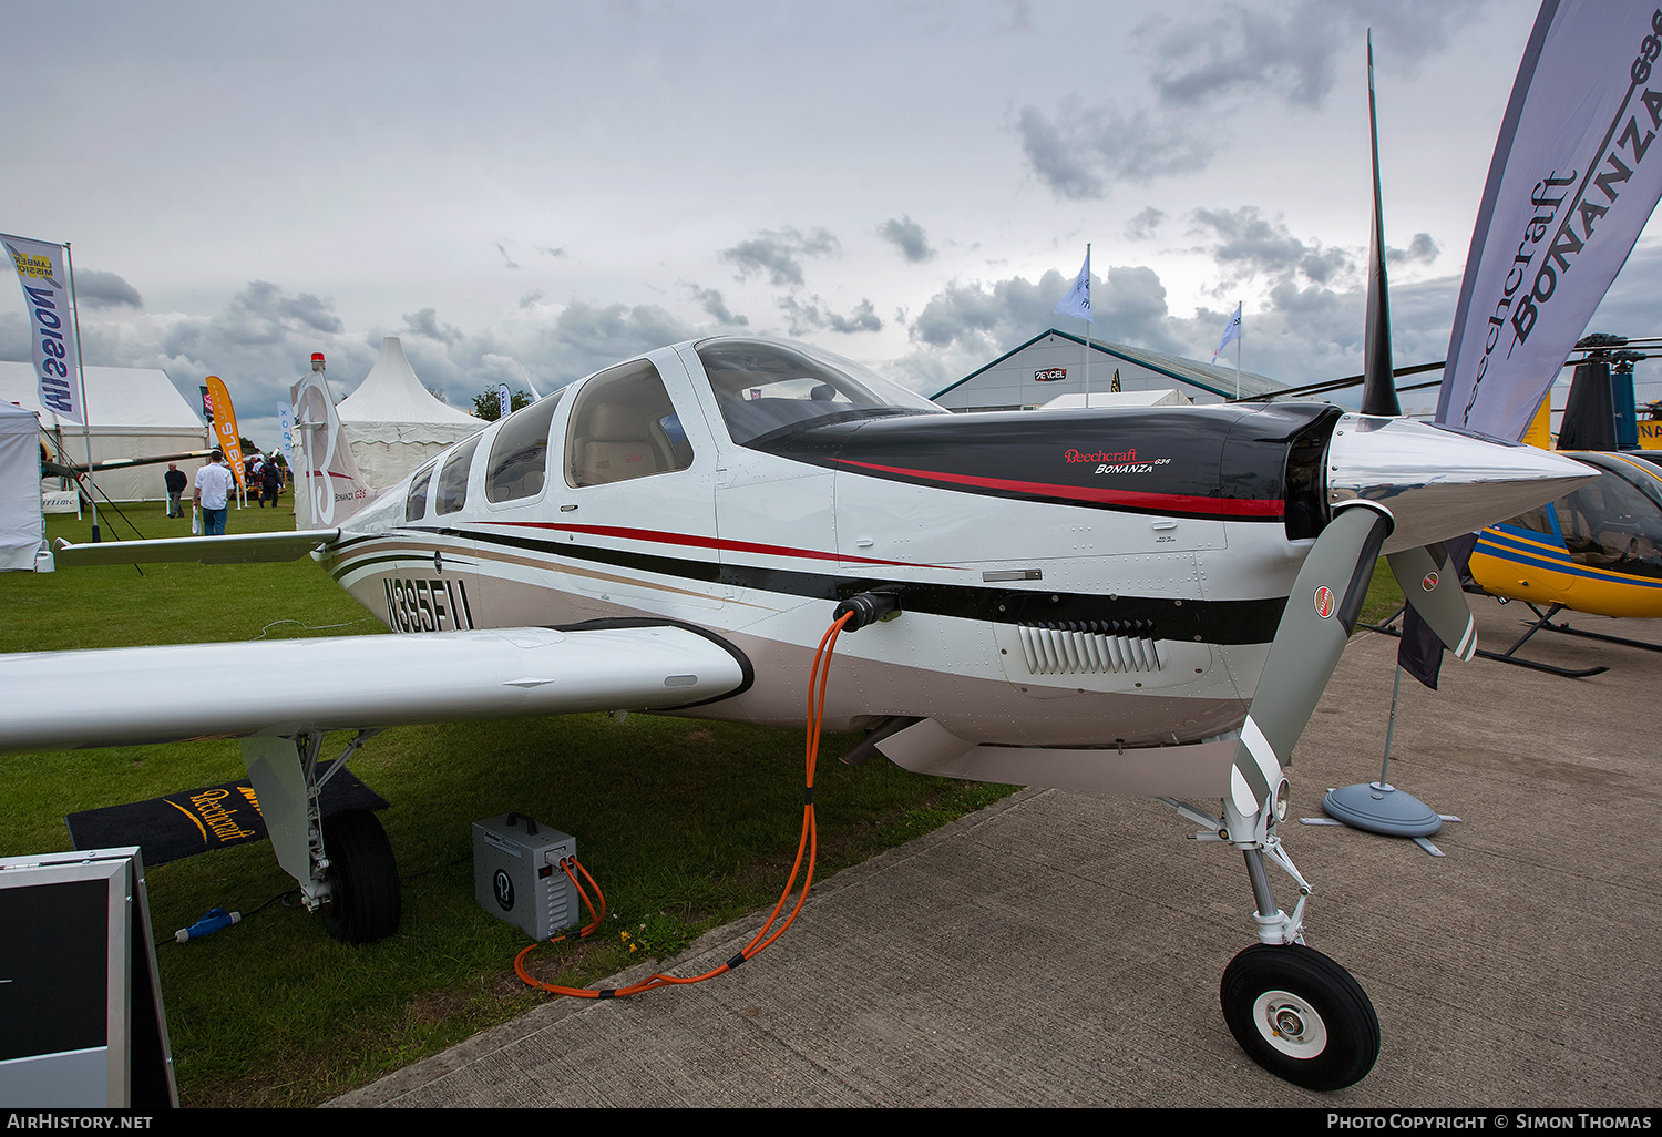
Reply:
[[[691,557],[663,557],[625,549],[607,549],[577,542],[538,540],[510,534],[462,529],[424,529],[424,535],[475,540],[484,545],[524,549],[553,559],[617,565],[660,577],[756,588],[809,600],[846,600],[876,587],[901,590],[906,612],[987,620],[992,623],[1025,623],[1074,632],[1138,635],[1155,640],[1192,640],[1203,643],[1268,643],[1281,622],[1283,597],[1268,600],[1172,600],[1158,597],[1095,595],[1085,592],[1039,592],[984,588],[977,585],[919,583],[886,577],[844,577],[794,568],[718,564]],[[342,567],[356,570],[362,562]]]

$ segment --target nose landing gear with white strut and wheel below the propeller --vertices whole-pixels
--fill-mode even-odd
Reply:
[[[1230,1034],[1253,1062],[1295,1085],[1338,1090],[1360,1082],[1379,1059],[1379,1019],[1348,971],[1305,946],[1310,883],[1275,834],[1286,813],[1286,781],[1266,808],[1251,816],[1225,798],[1222,821],[1183,801],[1160,801],[1207,826],[1195,839],[1227,841],[1246,859],[1260,943],[1235,956],[1223,971],[1218,999]],[[1291,916],[1275,903],[1265,856],[1298,883]]]

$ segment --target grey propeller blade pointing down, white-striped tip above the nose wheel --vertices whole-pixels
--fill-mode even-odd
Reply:
[[[1305,557],[1270,643],[1235,750],[1230,796],[1251,816],[1280,785],[1293,746],[1356,627],[1391,519],[1366,505],[1340,510]]]

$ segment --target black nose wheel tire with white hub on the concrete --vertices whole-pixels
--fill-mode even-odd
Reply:
[[[1303,944],[1253,944],[1218,989],[1230,1034],[1253,1062],[1295,1085],[1355,1085],[1379,1059],[1379,1017],[1348,971]]]

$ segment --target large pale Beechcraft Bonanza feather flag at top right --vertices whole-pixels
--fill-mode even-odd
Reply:
[[[1662,8],[1544,0],[1489,165],[1438,422],[1517,439],[1662,196]]]

